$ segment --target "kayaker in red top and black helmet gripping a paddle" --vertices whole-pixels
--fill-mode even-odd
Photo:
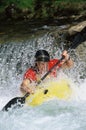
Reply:
[[[58,69],[61,68],[70,68],[73,66],[73,61],[70,58],[67,51],[63,51],[62,55],[65,57],[57,67],[55,67],[52,72],[49,74],[51,77],[56,77]],[[35,54],[35,66],[29,68],[23,78],[21,84],[21,91],[23,93],[34,93],[31,88],[31,83],[39,81],[41,77],[57,62],[58,59],[50,59],[50,55],[46,50],[38,50]]]

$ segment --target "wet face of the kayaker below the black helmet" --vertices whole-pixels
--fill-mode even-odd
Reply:
[[[39,73],[44,74],[48,71],[48,62],[37,62]]]

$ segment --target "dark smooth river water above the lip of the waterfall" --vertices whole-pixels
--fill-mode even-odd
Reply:
[[[82,22],[86,19],[86,13],[70,16],[59,16],[58,18],[46,18],[46,19],[31,19],[31,20],[19,20],[9,19],[7,21],[0,20],[0,43],[4,41],[21,41],[33,38],[34,35],[44,34],[55,29],[55,26],[69,25],[72,26],[75,23]]]

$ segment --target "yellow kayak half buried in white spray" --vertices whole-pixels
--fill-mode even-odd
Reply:
[[[72,95],[72,89],[67,80],[50,81],[44,84],[46,88],[36,90],[35,94],[31,94],[26,98],[26,104],[37,106],[53,98],[60,100],[68,100]]]

